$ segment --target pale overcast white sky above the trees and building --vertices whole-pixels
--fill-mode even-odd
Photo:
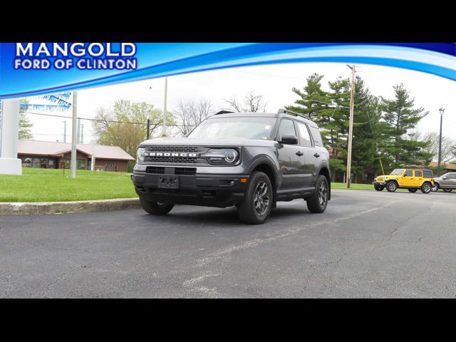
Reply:
[[[439,132],[439,108],[445,108],[442,135],[456,140],[456,82],[419,71],[402,68],[358,64],[358,75],[363,78],[373,95],[394,98],[393,86],[403,83],[415,98],[415,107],[429,110],[429,114],[418,124],[421,132]],[[182,100],[206,98],[212,102],[212,110],[226,107],[224,100],[237,95],[240,100],[245,93],[254,91],[264,95],[266,111],[276,113],[279,108],[291,105],[299,97],[291,88],[303,88],[306,78],[312,73],[324,75],[323,88],[328,90],[328,81],[338,76],[351,77],[351,70],[344,63],[293,63],[266,66],[229,68],[217,71],[204,71],[168,77],[167,110],[175,110]],[[116,100],[127,99],[132,103],[152,103],[163,108],[165,78],[121,83],[115,86],[90,88],[78,91],[78,117],[94,118],[100,107],[112,108]],[[43,100],[29,98],[30,103],[43,103]],[[71,116],[71,110],[56,115]],[[67,142],[71,141],[71,119],[50,118],[41,115],[28,115],[33,123],[31,130],[34,140],[63,142],[63,121],[67,122]],[[84,143],[95,142],[91,123],[82,120]]]

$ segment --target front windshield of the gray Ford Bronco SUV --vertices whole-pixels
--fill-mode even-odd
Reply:
[[[271,140],[276,118],[215,118],[204,120],[188,138],[246,138]]]

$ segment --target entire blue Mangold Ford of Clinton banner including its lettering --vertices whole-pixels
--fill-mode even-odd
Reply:
[[[455,43],[0,43],[0,98],[306,62],[393,66],[456,80]]]

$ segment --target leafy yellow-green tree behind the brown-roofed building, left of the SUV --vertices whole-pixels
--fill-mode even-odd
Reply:
[[[118,100],[111,108],[98,108],[93,131],[100,145],[119,146],[135,157],[140,142],[146,139],[147,119],[150,119],[150,136],[153,137],[162,124],[162,110],[149,103],[130,103]],[[167,125],[175,125],[172,113],[166,114]]]

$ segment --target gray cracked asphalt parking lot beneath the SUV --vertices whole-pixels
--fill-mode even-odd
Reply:
[[[324,214],[0,216],[0,297],[456,297],[456,193],[334,190]]]

